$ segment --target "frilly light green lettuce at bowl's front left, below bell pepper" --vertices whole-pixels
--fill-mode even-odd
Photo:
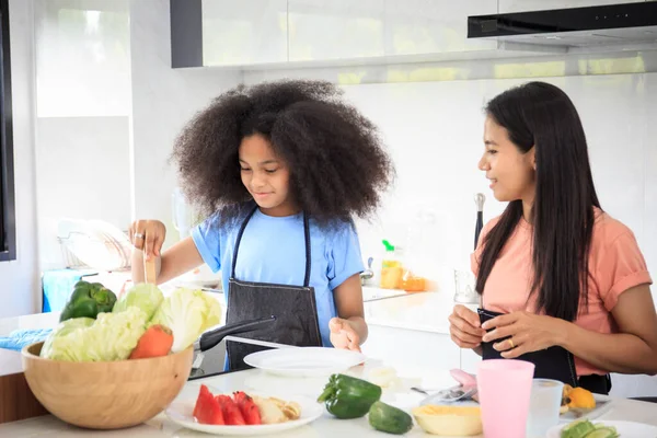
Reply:
[[[146,313],[134,306],[119,313],[99,313],[92,325],[53,336],[42,356],[69,361],[124,360],[146,332],[147,322]]]

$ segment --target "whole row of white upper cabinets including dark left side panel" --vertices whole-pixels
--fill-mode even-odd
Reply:
[[[170,0],[172,66],[247,69],[499,57],[498,42],[468,38],[469,15],[527,3],[586,2]]]

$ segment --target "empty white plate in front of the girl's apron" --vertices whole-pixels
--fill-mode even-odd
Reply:
[[[357,351],[324,347],[279,348],[253,353],[244,362],[254,368],[288,377],[321,377],[362,364]]]

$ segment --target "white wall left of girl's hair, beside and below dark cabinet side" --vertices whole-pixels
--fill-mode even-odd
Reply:
[[[183,125],[210,100],[235,87],[239,71],[172,69],[169,1],[130,0],[132,83],[134,217],[166,224],[168,242],[177,240],[171,222],[175,185],[168,163]]]

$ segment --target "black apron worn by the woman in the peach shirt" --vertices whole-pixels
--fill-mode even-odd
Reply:
[[[485,309],[477,309],[477,312],[482,324],[485,321],[503,314]],[[491,332],[491,330],[488,332]],[[483,342],[482,359],[502,359],[502,351],[497,351],[493,348],[493,345],[507,338],[508,337],[495,339],[488,343]],[[581,376],[578,379],[577,371],[575,370],[575,356],[567,349],[557,345],[539,351],[526,353],[525,355],[517,357],[517,359],[527,360],[535,366],[535,379],[560,380],[573,388],[581,387],[598,394],[608,394],[611,389],[611,379],[609,378],[609,374]]]

